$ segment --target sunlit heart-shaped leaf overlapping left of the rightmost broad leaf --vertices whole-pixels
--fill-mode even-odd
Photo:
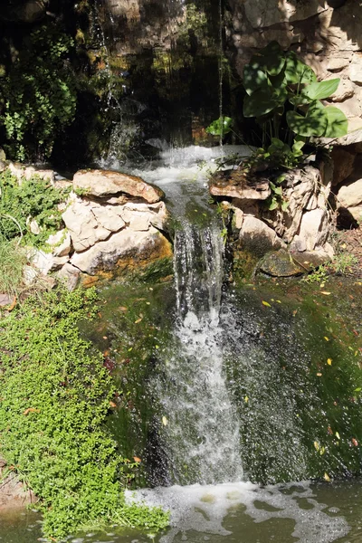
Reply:
[[[296,111],[288,111],[287,123],[289,128],[300,136],[323,136],[327,129],[326,108],[319,101],[310,104],[307,115],[303,117]]]

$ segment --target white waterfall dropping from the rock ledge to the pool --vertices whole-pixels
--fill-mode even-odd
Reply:
[[[218,224],[176,232],[175,343],[161,398],[170,483],[240,481],[239,423],[224,378],[219,310],[224,243]]]

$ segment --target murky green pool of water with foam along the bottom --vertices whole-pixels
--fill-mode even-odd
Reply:
[[[360,543],[362,482],[288,483],[257,487],[234,483],[143,491],[149,503],[171,510],[166,532],[142,534],[116,527],[70,536],[72,543]],[[32,511],[0,514],[1,543],[42,541]]]

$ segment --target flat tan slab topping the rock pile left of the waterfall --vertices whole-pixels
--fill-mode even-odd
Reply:
[[[124,193],[143,198],[154,204],[164,197],[163,191],[151,186],[140,177],[121,174],[112,170],[80,170],[73,178],[74,189],[86,191],[91,196],[118,195]]]

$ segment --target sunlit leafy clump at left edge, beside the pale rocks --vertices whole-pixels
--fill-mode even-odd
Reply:
[[[11,240],[24,235],[24,242],[42,246],[51,233],[62,224],[62,213],[57,205],[66,197],[48,181],[33,176],[23,179],[21,185],[9,170],[0,174],[0,238]],[[38,235],[29,229],[34,219],[41,229]]]

